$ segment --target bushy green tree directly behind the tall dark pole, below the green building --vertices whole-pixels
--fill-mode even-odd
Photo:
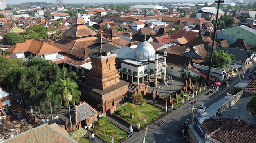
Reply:
[[[213,50],[213,58],[212,58],[212,65],[216,68],[225,69],[225,67],[228,67],[227,65],[229,63],[232,63],[232,61],[235,59],[235,56],[232,54],[228,54],[227,50]],[[210,65],[210,56],[211,54],[207,54],[205,57],[205,63],[207,65]]]

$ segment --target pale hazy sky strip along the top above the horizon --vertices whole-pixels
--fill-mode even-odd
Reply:
[[[191,1],[200,1],[200,2],[214,2],[214,0],[189,0]],[[55,0],[5,0],[6,4],[21,4],[24,2],[52,2],[55,3]],[[92,2],[180,2],[180,0],[64,0],[64,3],[92,3]],[[185,1],[184,1],[185,2]]]

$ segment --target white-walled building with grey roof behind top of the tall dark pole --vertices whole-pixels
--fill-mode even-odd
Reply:
[[[224,12],[219,9],[218,17],[224,16]],[[204,17],[210,17],[211,20],[216,20],[217,16],[217,9],[201,9],[196,13],[196,18],[204,18]]]

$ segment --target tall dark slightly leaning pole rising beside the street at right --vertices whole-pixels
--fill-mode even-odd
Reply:
[[[216,37],[216,30],[217,30],[217,23],[218,23],[219,7],[220,7],[221,3],[224,3],[224,0],[218,0],[218,1],[215,1],[214,3],[218,4],[218,8],[217,8],[217,14],[216,14],[216,20],[215,20],[215,30],[214,30],[214,33],[213,33],[213,42],[212,42],[212,45],[211,45],[211,58],[210,58],[210,65],[208,67],[207,85],[209,85],[209,79],[210,79],[210,73],[211,73],[211,64],[212,64],[214,41],[215,41],[215,37]]]

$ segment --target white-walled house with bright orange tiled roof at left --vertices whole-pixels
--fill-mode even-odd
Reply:
[[[28,39],[22,43],[17,43],[7,50],[12,58],[22,58],[25,61],[29,56],[43,58],[45,60],[57,61],[63,59],[63,55],[58,54],[60,49],[36,39]]]

